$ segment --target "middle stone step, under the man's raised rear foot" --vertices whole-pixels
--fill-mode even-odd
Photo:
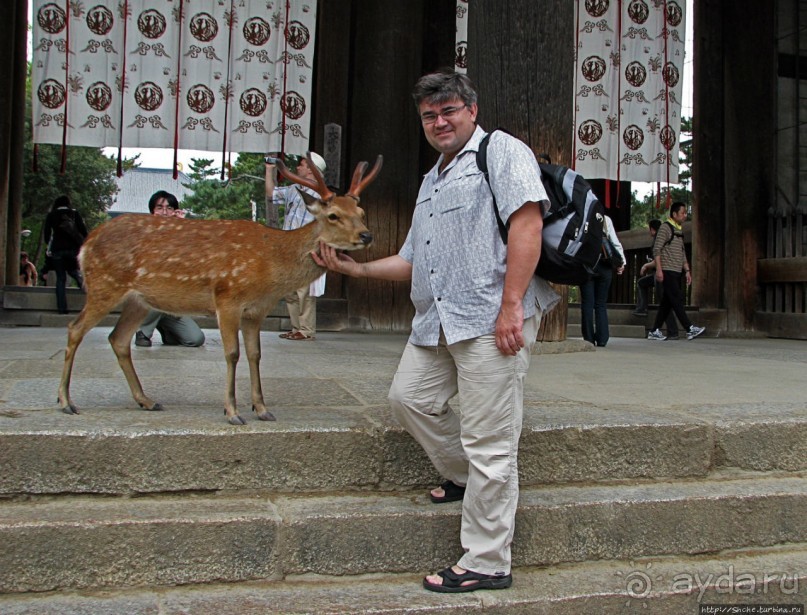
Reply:
[[[425,572],[462,554],[460,508],[425,492],[9,501],[0,593]],[[803,476],[533,487],[521,492],[513,564],[805,543],[805,518]]]

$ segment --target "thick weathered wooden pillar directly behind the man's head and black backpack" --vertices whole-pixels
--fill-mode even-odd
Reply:
[[[568,0],[473,0],[469,11],[468,75],[480,125],[507,128],[559,164],[572,159],[573,13]],[[542,327],[545,341],[566,337],[562,294]]]

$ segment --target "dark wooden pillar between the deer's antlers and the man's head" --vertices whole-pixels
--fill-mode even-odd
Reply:
[[[422,130],[411,98],[425,70],[453,62],[454,0],[322,3],[318,29],[317,139],[325,124],[342,126],[342,173],[378,154],[384,168],[362,194],[372,246],[357,260],[397,254],[422,179]],[[446,34],[447,33],[447,34]],[[316,143],[316,140],[315,140]],[[426,166],[436,160],[436,153]],[[343,185],[344,189],[344,185]],[[409,283],[342,279],[351,326],[407,331]]]

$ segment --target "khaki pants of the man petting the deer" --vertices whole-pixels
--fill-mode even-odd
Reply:
[[[445,478],[465,485],[457,565],[482,574],[510,573],[518,504],[518,441],[524,377],[540,324],[524,321],[527,345],[514,357],[484,335],[447,346],[407,344],[389,400],[401,425]],[[449,400],[459,394],[458,408]]]

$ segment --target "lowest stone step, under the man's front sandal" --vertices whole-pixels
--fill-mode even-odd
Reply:
[[[421,587],[422,576],[423,573],[299,575],[281,582],[217,583],[103,593],[6,594],[0,596],[0,611],[4,615],[431,615],[459,612],[691,615],[699,612],[699,605],[787,604],[803,608],[807,601],[807,545],[731,550],[714,556],[514,568],[514,583],[508,590],[457,595],[425,591]],[[804,611],[789,612],[795,615]]]

